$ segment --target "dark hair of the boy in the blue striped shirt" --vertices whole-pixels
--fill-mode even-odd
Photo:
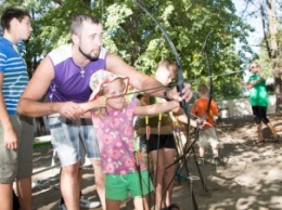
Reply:
[[[11,21],[13,18],[16,18],[18,22],[22,22],[23,18],[25,18],[26,16],[31,18],[29,13],[22,9],[7,8],[1,15],[1,26],[3,30],[9,30],[11,27]]]

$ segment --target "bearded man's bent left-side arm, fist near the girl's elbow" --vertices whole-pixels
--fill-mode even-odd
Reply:
[[[40,117],[60,113],[67,118],[77,118],[79,106],[73,102],[65,103],[48,103],[40,102],[44,96],[52,79],[54,78],[54,68],[47,56],[38,66],[35,75],[28,82],[17,105],[17,111],[21,115],[30,117]]]

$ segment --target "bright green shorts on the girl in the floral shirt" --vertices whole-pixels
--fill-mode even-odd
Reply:
[[[140,184],[142,183],[142,185]],[[142,187],[141,187],[142,186]],[[105,197],[111,200],[124,200],[128,193],[133,198],[143,197],[154,189],[146,170],[127,174],[106,174]]]

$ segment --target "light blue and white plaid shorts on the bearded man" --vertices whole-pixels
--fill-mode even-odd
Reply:
[[[82,145],[89,159],[100,160],[99,145],[93,133],[91,119],[67,119],[54,114],[48,116],[52,145],[57,153],[61,167],[72,166],[81,160]],[[81,141],[81,143],[80,143]]]

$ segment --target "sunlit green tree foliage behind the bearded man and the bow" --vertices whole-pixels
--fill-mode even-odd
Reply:
[[[5,1],[10,3],[14,1]],[[132,0],[26,0],[16,3],[30,10],[34,16],[34,32],[27,42],[26,60],[35,67],[55,47],[69,42],[72,16],[92,13],[104,25],[104,45],[119,54],[128,64],[145,74],[153,74],[162,58],[175,60],[161,29]],[[181,61],[184,78],[194,81],[208,75],[240,69],[252,53],[247,45],[247,32],[252,29],[235,15],[231,0],[143,0],[140,1],[157,17],[175,44]],[[235,40],[242,50],[235,51]],[[240,69],[241,70],[241,69]],[[242,77],[233,79],[241,83]],[[228,86],[223,77],[214,79],[215,90],[220,95],[238,94],[236,82]],[[226,84],[227,82],[227,84]],[[234,86],[233,86],[234,84]],[[222,90],[225,89],[225,90]]]

